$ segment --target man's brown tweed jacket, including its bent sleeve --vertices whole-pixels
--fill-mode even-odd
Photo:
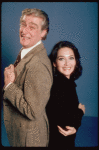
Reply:
[[[46,147],[49,124],[45,112],[53,82],[43,43],[32,49],[15,68],[17,77],[3,95],[4,123],[13,147]]]

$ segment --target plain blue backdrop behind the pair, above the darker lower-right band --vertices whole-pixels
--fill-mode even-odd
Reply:
[[[3,2],[1,8],[2,87],[4,68],[14,63],[21,48],[19,24],[25,8],[44,10],[50,19],[47,53],[61,41],[76,45],[81,55],[83,74],[76,81],[79,101],[85,116],[98,117],[98,4],[96,2]]]

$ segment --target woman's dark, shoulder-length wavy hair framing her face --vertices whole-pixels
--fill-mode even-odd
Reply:
[[[75,59],[76,59],[76,66],[75,66],[75,70],[71,74],[70,78],[72,78],[73,80],[76,80],[82,75],[82,66],[81,66],[81,62],[80,62],[80,54],[78,52],[78,49],[75,47],[75,45],[73,43],[69,42],[69,41],[60,41],[60,42],[58,42],[53,47],[52,52],[49,55],[49,58],[50,58],[51,64],[52,64],[52,68],[53,68],[53,75],[56,75],[58,73],[57,70],[54,71],[55,68],[53,66],[53,63],[56,62],[58,50],[61,49],[61,48],[64,48],[64,47],[71,48],[74,52]]]

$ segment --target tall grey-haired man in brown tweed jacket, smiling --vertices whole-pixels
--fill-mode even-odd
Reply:
[[[52,86],[52,68],[41,40],[49,19],[39,9],[25,9],[20,18],[23,46],[14,65],[4,71],[4,123],[12,147],[46,147],[49,141],[45,107]]]

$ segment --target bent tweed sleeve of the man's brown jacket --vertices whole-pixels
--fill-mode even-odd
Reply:
[[[24,116],[34,120],[42,114],[49,100],[52,79],[45,65],[37,62],[27,71],[24,90],[12,83],[4,92],[8,100]]]

